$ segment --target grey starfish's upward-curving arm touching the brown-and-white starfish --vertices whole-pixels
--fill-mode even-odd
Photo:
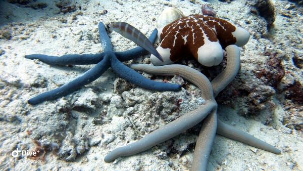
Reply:
[[[240,49],[235,45],[225,48],[227,52],[226,68],[212,80],[216,97],[236,77],[240,69]]]

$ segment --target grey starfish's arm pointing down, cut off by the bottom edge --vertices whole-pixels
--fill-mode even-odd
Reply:
[[[191,170],[206,170],[217,132],[217,110],[204,120],[194,148]]]

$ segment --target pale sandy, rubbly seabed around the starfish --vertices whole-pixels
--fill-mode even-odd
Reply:
[[[0,1],[0,170],[189,170],[200,125],[145,152],[112,163],[105,163],[104,157],[203,103],[195,86],[179,76],[143,73],[185,85],[180,92],[149,91],[109,69],[66,97],[31,106],[27,103],[31,97],[62,86],[93,65],[50,66],[24,55],[100,53],[99,21],[128,22],[150,35],[166,7],[190,15],[201,13],[205,4],[217,11],[217,17],[251,34],[241,48],[239,74],[217,99],[219,117],[282,151],[276,155],[217,136],[208,170],[303,169],[303,116],[298,98],[302,94],[297,94],[303,78],[301,7],[272,1],[276,16],[269,32],[267,21],[251,1],[86,0],[63,3],[63,7],[53,1],[35,3],[46,6]],[[109,35],[115,51],[136,46],[118,33]],[[149,63],[148,57],[126,64]],[[273,64],[278,69],[270,63],[276,58],[280,62]],[[203,70],[193,60],[181,63]],[[281,70],[284,74],[277,81]],[[232,91],[236,93],[229,94]],[[40,150],[38,159],[43,163],[11,162],[30,160],[21,154],[13,157],[17,148]]]

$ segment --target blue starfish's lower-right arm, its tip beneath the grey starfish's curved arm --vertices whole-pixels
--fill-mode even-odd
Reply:
[[[157,91],[179,91],[181,89],[179,84],[158,82],[147,79],[138,72],[121,63],[114,55],[111,57],[111,65],[114,72],[120,77],[136,84],[139,87]]]

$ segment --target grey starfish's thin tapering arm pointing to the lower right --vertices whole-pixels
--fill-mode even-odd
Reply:
[[[218,119],[218,129],[217,134],[222,135],[224,137],[240,141],[242,143],[248,144],[252,147],[256,147],[265,151],[269,151],[271,153],[280,154],[281,151],[274,146],[267,144],[264,141],[261,141],[254,136],[251,136],[241,130],[236,129],[233,126],[230,126],[220,119]]]

